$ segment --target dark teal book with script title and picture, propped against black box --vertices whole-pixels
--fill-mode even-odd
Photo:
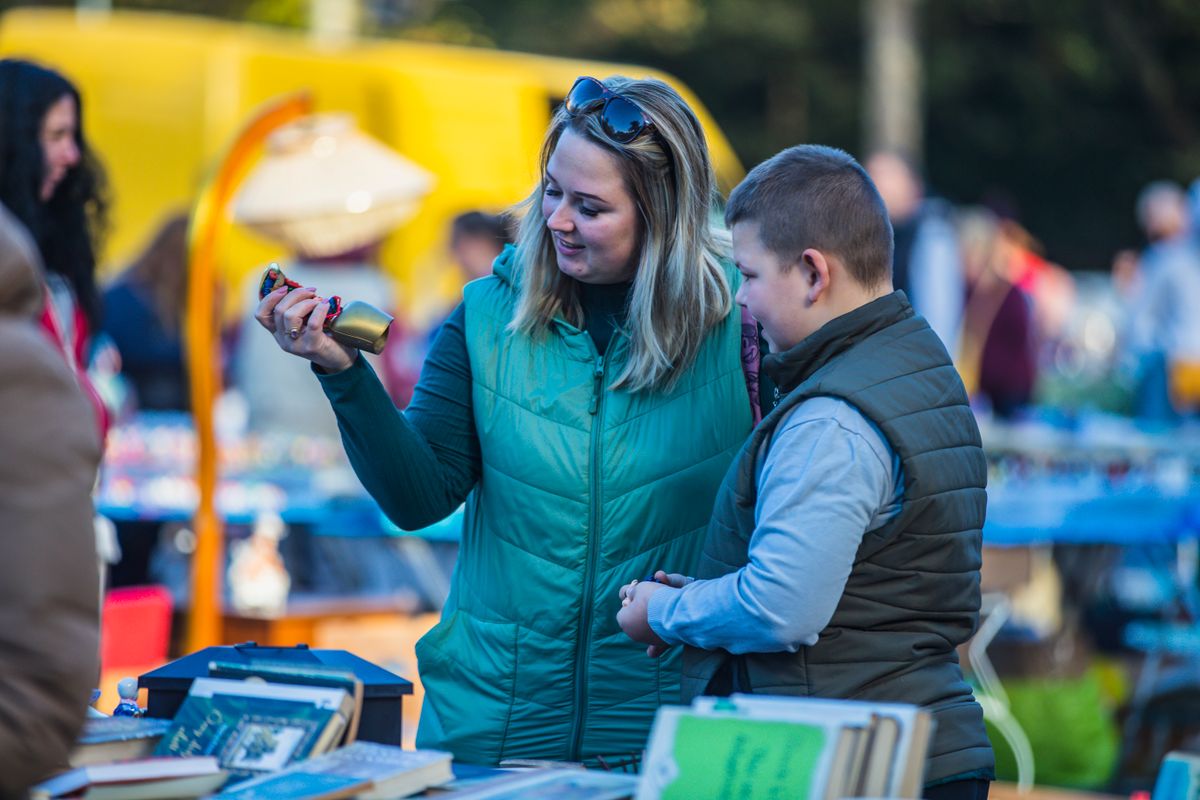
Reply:
[[[353,710],[343,688],[197,678],[155,754],[216,756],[248,778],[328,751]]]

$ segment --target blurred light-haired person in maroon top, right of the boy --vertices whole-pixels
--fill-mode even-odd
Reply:
[[[1037,380],[1032,306],[1012,278],[1020,251],[991,211],[964,210],[958,229],[967,287],[959,372],[973,397],[1007,419],[1030,403]]]

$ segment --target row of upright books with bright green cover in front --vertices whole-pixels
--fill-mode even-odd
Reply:
[[[637,800],[914,800],[932,727],[914,705],[701,697],[659,709]]]

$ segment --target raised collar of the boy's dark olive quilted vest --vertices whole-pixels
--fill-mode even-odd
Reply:
[[[912,315],[912,306],[904,291],[883,295],[829,320],[790,350],[763,356],[763,372],[775,381],[781,392],[787,393],[811,378],[830,359]]]

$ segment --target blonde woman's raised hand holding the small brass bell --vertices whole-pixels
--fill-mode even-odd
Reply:
[[[259,301],[254,319],[284,353],[307,359],[325,372],[342,372],[358,354],[322,330],[328,313],[329,301],[317,296],[312,287],[292,291],[280,287]]]

